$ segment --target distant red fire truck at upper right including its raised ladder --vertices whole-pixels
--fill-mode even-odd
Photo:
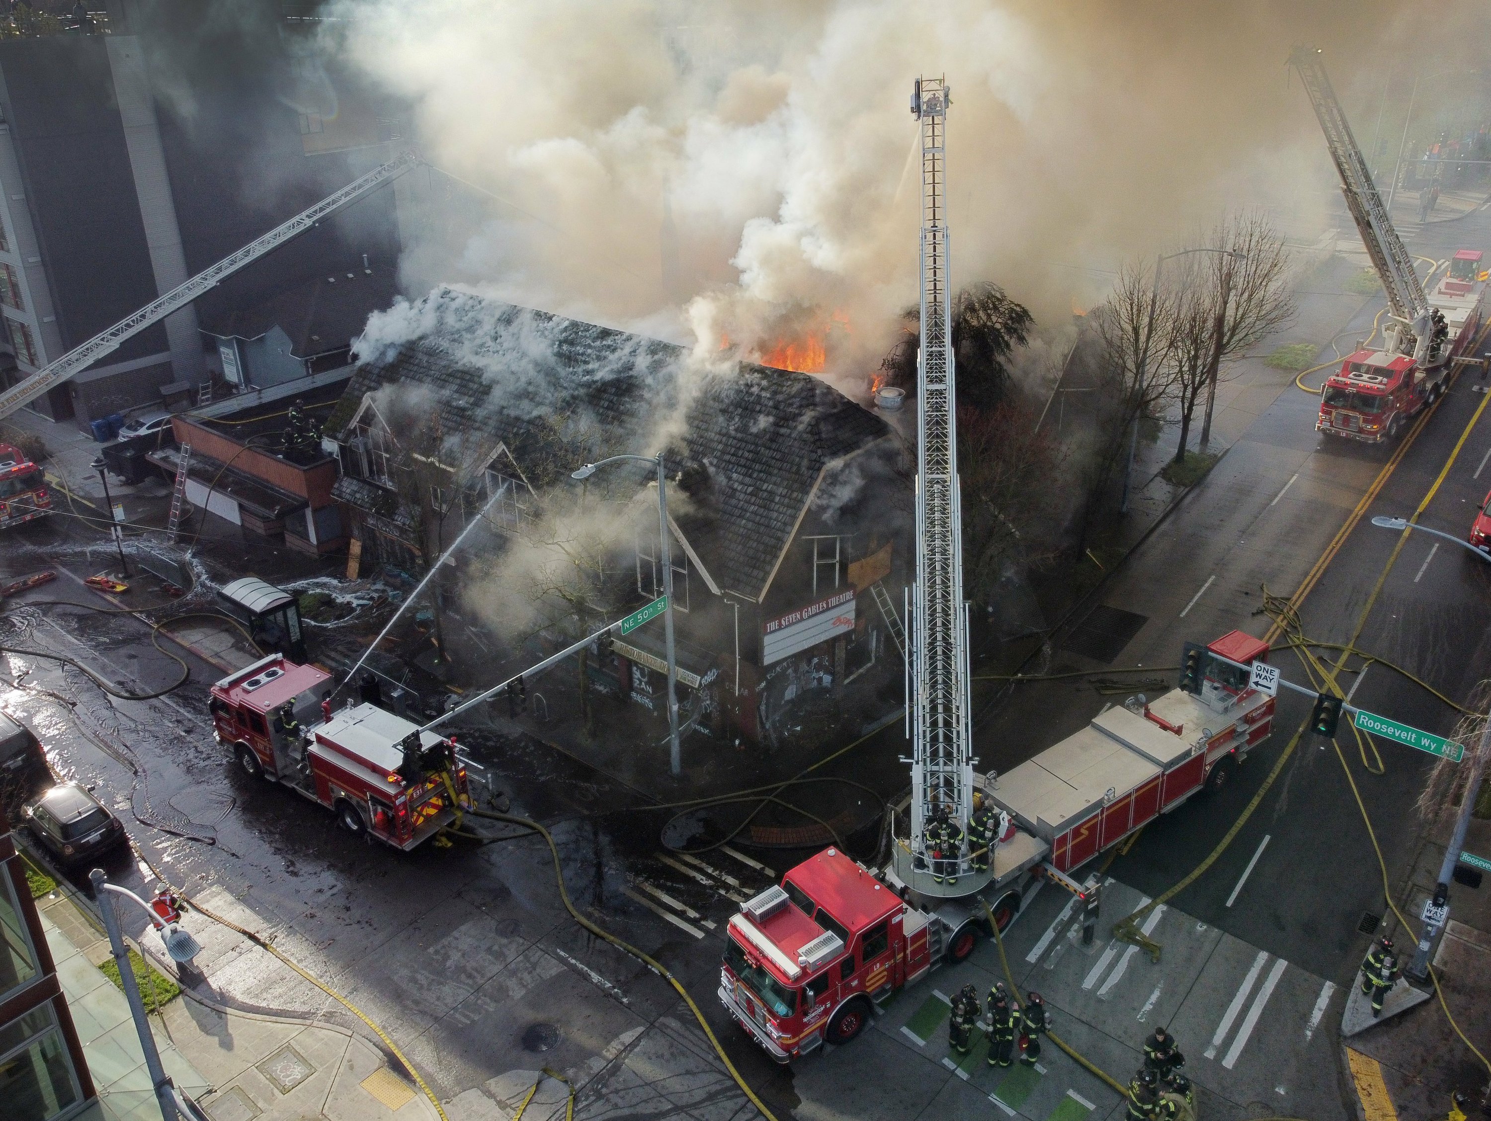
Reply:
[[[1387,292],[1390,319],[1381,350],[1358,349],[1346,355],[1325,379],[1315,431],[1366,443],[1394,440],[1409,417],[1439,400],[1454,376],[1455,359],[1475,344],[1487,291],[1481,253],[1457,252],[1433,297],[1425,295],[1413,258],[1393,228],[1336,100],[1321,52],[1296,48],[1290,64],[1299,72],[1325,133],[1346,209]]]

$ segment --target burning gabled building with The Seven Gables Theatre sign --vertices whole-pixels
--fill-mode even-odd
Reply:
[[[904,444],[823,380],[704,371],[669,343],[449,288],[374,316],[358,355],[327,434],[364,568],[420,571],[482,508],[519,550],[546,510],[574,501],[574,467],[663,447],[684,710],[775,741],[871,669],[866,681],[899,686]],[[635,501],[595,580],[625,613],[661,593],[662,574],[656,499],[617,483]],[[505,547],[494,544],[480,552]],[[663,671],[661,623],[589,659],[595,686],[659,719]]]

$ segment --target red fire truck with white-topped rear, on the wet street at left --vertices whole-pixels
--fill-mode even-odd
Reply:
[[[328,717],[330,681],[280,654],[230,674],[207,704],[213,738],[246,774],[335,811],[355,836],[407,853],[459,823],[471,801],[455,741],[367,702]]]

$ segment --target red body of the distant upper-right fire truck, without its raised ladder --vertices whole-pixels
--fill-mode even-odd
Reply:
[[[1419,368],[1410,355],[1361,349],[1346,355],[1321,389],[1317,432],[1346,440],[1396,440],[1408,420],[1449,385],[1455,359],[1473,347],[1485,313],[1479,250],[1461,249],[1430,295],[1436,340]]]

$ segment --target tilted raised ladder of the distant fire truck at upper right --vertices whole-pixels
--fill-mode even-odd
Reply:
[[[1412,355],[1413,362],[1424,368],[1430,364],[1436,323],[1424,285],[1413,270],[1413,258],[1393,228],[1388,209],[1382,204],[1382,195],[1372,180],[1367,161],[1361,157],[1357,139],[1346,122],[1346,113],[1325,75],[1321,52],[1312,46],[1297,46],[1290,54],[1290,66],[1299,72],[1305,92],[1315,107],[1315,116],[1320,118],[1325,146],[1340,174],[1340,192],[1346,198],[1346,209],[1351,210],[1361,243],[1387,292],[1393,323],[1382,332],[1385,350],[1390,355]]]

